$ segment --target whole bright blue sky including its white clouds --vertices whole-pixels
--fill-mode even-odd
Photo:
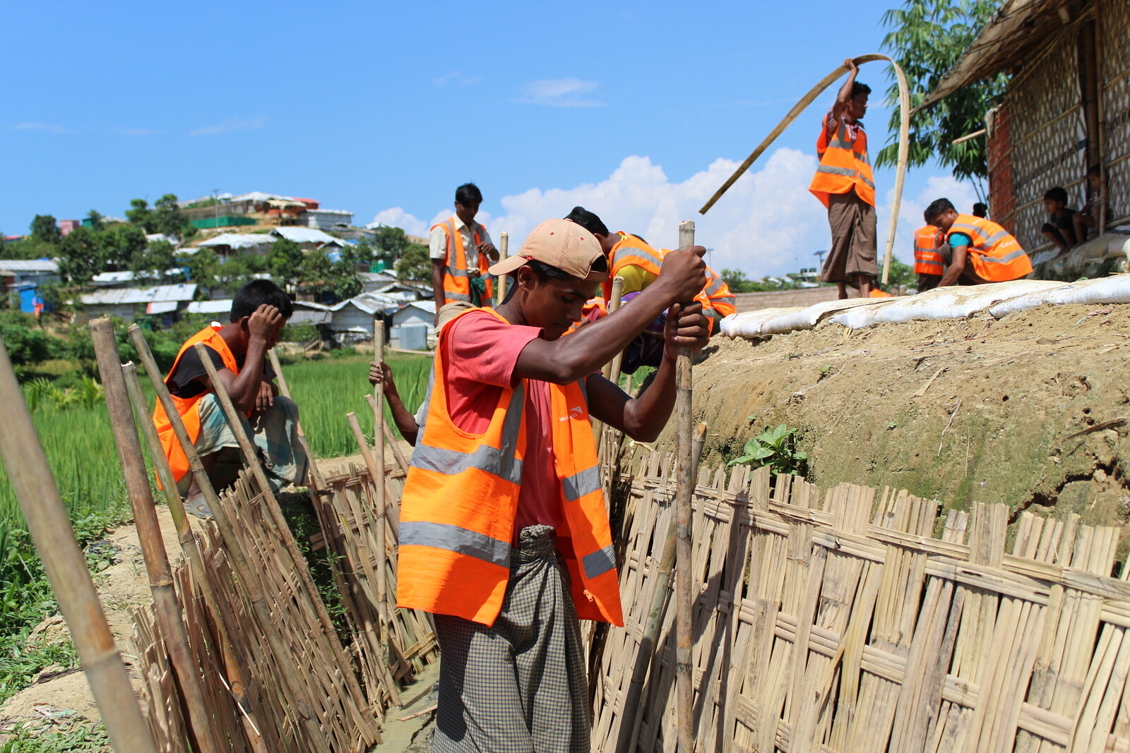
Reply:
[[[815,262],[805,191],[827,91],[705,216],[697,208],[845,56],[876,52],[896,0],[828,2],[6,3],[0,230],[36,213],[121,216],[134,196],[214,189],[311,196],[423,233],[475,181],[512,244],[574,203],[676,243],[693,217],[712,265]],[[886,141],[886,69],[864,123]],[[877,173],[880,243],[894,173]],[[911,170],[896,253],[921,208],[972,202]]]

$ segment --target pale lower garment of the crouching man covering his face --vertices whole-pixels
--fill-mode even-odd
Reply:
[[[208,393],[200,399],[199,405],[200,435],[193,443],[197,454],[203,457],[226,447],[238,449],[240,443],[216,394]],[[255,445],[271,491],[292,483],[305,483],[308,458],[298,443],[298,406],[293,400],[278,395],[273,405],[255,411],[251,419],[241,415],[240,421],[247,438]],[[177,483],[182,494],[188,492],[191,483],[192,474],[185,473]]]

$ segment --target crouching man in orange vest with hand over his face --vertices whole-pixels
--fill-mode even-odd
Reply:
[[[293,313],[290,300],[277,284],[270,280],[249,282],[235,294],[228,323],[205,327],[189,338],[165,377],[176,412],[216,491],[235,482],[243,469],[243,456],[193,347],[198,342],[207,348],[232,403],[246,415],[243,428],[258,447],[275,491],[290,483],[305,483],[307,458],[297,438],[298,408],[278,394],[275,374],[267,362],[267,351],[278,342]],[[159,402],[153,420],[185,507],[198,517],[210,517],[211,510],[189,473],[189,461]]]

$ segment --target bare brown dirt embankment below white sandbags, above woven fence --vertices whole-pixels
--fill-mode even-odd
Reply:
[[[715,344],[694,371],[709,465],[786,423],[824,488],[1130,520],[1130,305]],[[671,424],[659,447],[673,446]]]

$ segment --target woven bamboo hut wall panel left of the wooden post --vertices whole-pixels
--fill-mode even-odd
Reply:
[[[1077,25],[1049,41],[1051,49],[1014,79],[1005,95],[1011,122],[1014,235],[1032,253],[1048,244],[1044,192],[1063,186],[1070,205],[1083,202],[1086,126],[1079,103]]]

